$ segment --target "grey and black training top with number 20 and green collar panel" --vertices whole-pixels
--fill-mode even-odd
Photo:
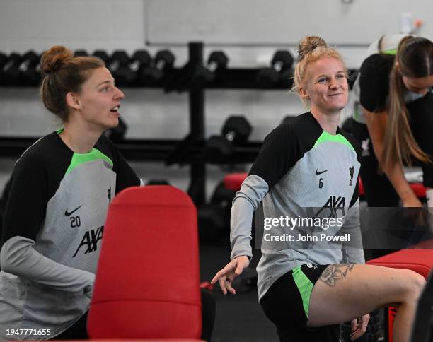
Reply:
[[[117,192],[139,184],[105,136],[91,152],[79,154],[54,132],[23,153],[4,215],[1,338],[52,338],[87,311],[108,204]],[[6,329],[36,334],[11,336]]]

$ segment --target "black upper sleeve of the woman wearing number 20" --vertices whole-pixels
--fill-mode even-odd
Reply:
[[[48,202],[48,175],[43,156],[24,154],[11,176],[1,244],[14,236],[36,240]]]

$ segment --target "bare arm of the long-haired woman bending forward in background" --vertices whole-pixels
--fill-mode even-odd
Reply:
[[[383,136],[385,136],[386,122],[388,112],[370,112],[362,107],[366,117],[366,125],[369,130],[371,143],[373,145],[374,155],[377,160],[381,160],[383,153]],[[409,182],[405,179],[402,165],[381,165],[383,172],[388,177],[391,184],[405,207],[421,207],[422,204],[417,196],[415,196]]]

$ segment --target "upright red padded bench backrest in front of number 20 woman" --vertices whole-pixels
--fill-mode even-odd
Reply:
[[[197,211],[174,187],[131,187],[110,204],[88,334],[200,338]]]

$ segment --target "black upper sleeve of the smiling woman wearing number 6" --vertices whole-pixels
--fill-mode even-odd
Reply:
[[[297,139],[290,124],[281,124],[268,134],[248,175],[258,175],[271,188],[299,159]]]

